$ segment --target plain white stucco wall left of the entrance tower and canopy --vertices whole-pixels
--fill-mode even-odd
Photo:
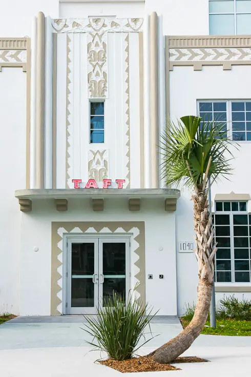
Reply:
[[[0,312],[19,312],[20,211],[14,192],[25,187],[26,73],[0,72]]]

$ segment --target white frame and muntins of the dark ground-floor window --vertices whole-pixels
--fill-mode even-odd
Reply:
[[[231,207],[231,210],[230,211],[224,211],[224,207],[223,207],[223,210],[222,211],[217,211],[216,210],[216,203],[217,202],[220,202],[220,203],[225,203],[225,202],[228,202],[228,203],[232,203],[234,201],[229,201],[229,200],[222,200],[222,201],[215,201],[214,202],[214,212],[212,213],[212,215],[214,216],[214,221],[215,221],[215,215],[220,215],[220,214],[226,214],[226,215],[229,215],[229,228],[230,228],[230,253],[231,253],[231,282],[217,282],[217,268],[216,268],[216,265],[215,265],[215,284],[218,284],[218,285],[232,285],[232,284],[242,284],[242,285],[250,285],[251,284],[251,243],[250,243],[250,239],[251,239],[251,232],[249,231],[249,226],[251,226],[251,224],[249,225],[249,216],[250,216],[250,213],[248,212],[248,201],[237,201],[238,203],[246,203],[246,211],[232,211],[232,207]],[[246,215],[247,216],[247,225],[240,225],[240,226],[247,226],[247,230],[248,230],[248,235],[247,235],[247,239],[248,239],[248,262],[249,262],[249,282],[236,282],[235,281],[235,272],[238,272],[235,271],[235,245],[234,245],[234,215]],[[215,222],[214,222],[215,224]],[[227,237],[227,236],[218,236],[218,237]],[[215,235],[214,235],[214,240],[216,241],[216,232],[215,232]],[[223,247],[224,248],[224,247]],[[238,248],[238,247],[237,247]],[[246,249],[245,247],[243,248],[239,248],[239,249]],[[217,259],[217,252],[216,252],[216,259],[215,261],[224,261],[224,260],[228,260],[228,259]],[[240,259],[240,261],[242,261]],[[219,271],[223,271],[223,270],[219,270]],[[228,271],[228,270],[226,270]],[[240,271],[240,272],[245,272],[245,270],[243,271]]]

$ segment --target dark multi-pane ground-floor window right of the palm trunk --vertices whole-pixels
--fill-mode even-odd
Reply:
[[[251,215],[246,202],[215,203],[216,276],[218,283],[249,283]]]

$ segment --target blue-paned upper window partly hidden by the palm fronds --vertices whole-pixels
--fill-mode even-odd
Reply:
[[[198,101],[202,120],[223,126],[234,141],[251,141],[251,101]]]

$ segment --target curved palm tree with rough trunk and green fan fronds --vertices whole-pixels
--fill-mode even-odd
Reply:
[[[228,149],[230,140],[226,136],[226,125],[204,122],[197,116],[183,116],[178,125],[171,123],[170,130],[162,138],[162,172],[166,185],[182,184],[192,189],[197,246],[194,252],[199,275],[197,305],[192,321],[174,339],[149,355],[156,362],[165,364],[174,361],[191,346],[207,320],[217,250],[207,194],[210,182],[212,185],[220,177],[231,174],[229,161],[233,155]]]

